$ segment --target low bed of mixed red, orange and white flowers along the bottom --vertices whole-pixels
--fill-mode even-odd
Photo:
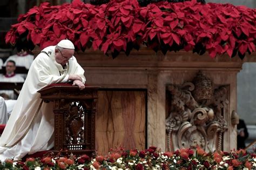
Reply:
[[[205,153],[203,149],[183,148],[176,152],[161,152],[151,146],[143,151],[123,147],[111,149],[105,157],[89,158],[45,156],[42,159],[28,158],[25,162],[6,159],[0,169],[255,169],[256,155],[244,150]]]

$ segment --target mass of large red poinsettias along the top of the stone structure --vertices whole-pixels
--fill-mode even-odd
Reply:
[[[244,58],[255,51],[256,9],[232,4],[172,3],[162,1],[141,7],[137,0],[111,0],[107,4],[85,4],[79,0],[63,5],[42,3],[18,17],[5,42],[18,50],[35,45],[43,49],[68,38],[77,50],[112,53],[139,50],[186,50],[214,58],[227,53]]]

